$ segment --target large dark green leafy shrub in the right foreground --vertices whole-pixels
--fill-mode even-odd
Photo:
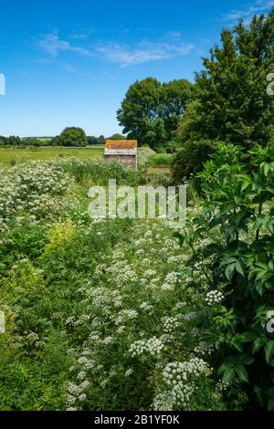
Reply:
[[[200,317],[218,375],[246,382],[251,406],[273,410],[274,144],[249,157],[240,162],[241,148],[222,144],[205,163],[203,214],[184,241],[193,249],[190,266],[204,261],[212,290]],[[199,246],[208,235],[211,243]]]

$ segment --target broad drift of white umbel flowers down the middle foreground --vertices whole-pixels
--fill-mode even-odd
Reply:
[[[98,227],[103,231],[103,225]],[[79,394],[68,392],[76,398],[74,402],[70,398],[68,406],[86,409],[89,392],[111,392],[120,380],[127,389],[127,384],[140,378],[140,372],[147,371],[145,379],[156,391],[151,405],[154,410],[191,409],[197,378],[210,375],[210,368],[199,358],[205,359],[212,350],[201,341],[202,328],[195,326],[199,313],[191,305],[195,298],[200,306],[205,297],[205,292],[195,289],[195,282],[205,282],[201,280],[204,274],[200,269],[192,273],[182,267],[181,248],[163,224],[139,224],[131,234],[122,246],[115,245],[109,255],[100,258],[92,275],[88,274],[77,289],[79,312],[68,320],[66,328],[72,333],[83,315],[90,319],[81,333],[85,340],[82,344],[77,340],[79,350],[70,381],[79,386],[87,380],[90,390],[80,393],[87,394],[83,402]],[[163,245],[157,246],[156,235],[159,240],[164,237]],[[170,266],[163,264],[167,255]],[[130,368],[129,355],[133,358]],[[168,357],[174,361],[166,364]]]

